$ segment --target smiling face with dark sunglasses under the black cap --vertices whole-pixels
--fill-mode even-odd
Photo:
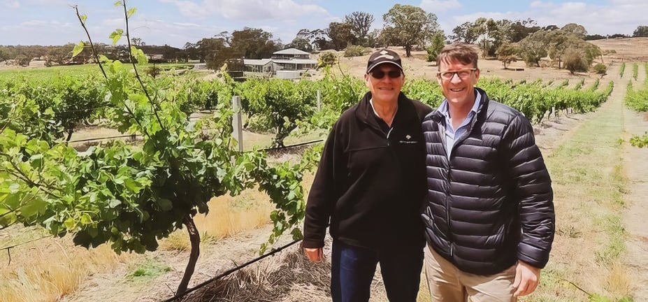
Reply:
[[[382,71],[382,78],[377,79],[372,75],[375,71]],[[398,78],[391,78],[389,73],[398,71],[401,73]],[[378,74],[380,72],[375,72]],[[398,94],[401,93],[401,87],[405,82],[405,75],[401,69],[394,64],[380,64],[375,66],[370,73],[364,75],[364,82],[369,87],[371,98],[374,101],[398,101]]]

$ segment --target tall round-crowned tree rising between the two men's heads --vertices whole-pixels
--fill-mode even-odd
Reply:
[[[384,40],[405,48],[405,56],[412,56],[412,46],[422,45],[439,31],[436,15],[417,6],[396,4],[382,15]]]

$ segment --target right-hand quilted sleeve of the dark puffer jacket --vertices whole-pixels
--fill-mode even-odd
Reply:
[[[526,117],[517,114],[507,128],[504,139],[509,152],[508,171],[519,201],[522,233],[517,257],[532,266],[544,268],[554,240],[554,194],[552,182],[535,145],[533,128]]]

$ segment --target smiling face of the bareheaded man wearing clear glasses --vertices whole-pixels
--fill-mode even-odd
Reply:
[[[448,100],[450,106],[472,106],[475,101],[475,84],[480,78],[480,70],[476,69],[473,64],[463,64],[458,60],[450,59],[447,62],[439,62],[439,71],[470,71],[467,78],[461,78],[459,73],[453,73],[452,78],[437,75],[437,80],[442,88],[443,95]]]

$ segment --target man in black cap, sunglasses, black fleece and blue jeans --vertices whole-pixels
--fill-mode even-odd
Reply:
[[[394,51],[374,52],[364,80],[370,91],[326,139],[306,204],[303,246],[310,260],[321,261],[330,220],[333,301],[368,301],[380,263],[389,301],[414,302],[424,247],[421,123],[432,109],[401,93],[405,75]]]

